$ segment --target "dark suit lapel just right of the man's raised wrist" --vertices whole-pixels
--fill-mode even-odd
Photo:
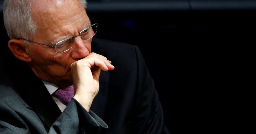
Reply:
[[[108,71],[100,71],[100,89],[97,96],[94,98],[92,102],[92,106],[90,108],[96,115],[98,115],[101,119],[104,117],[104,112],[106,108],[106,102],[108,97],[108,81],[109,81],[109,72]]]

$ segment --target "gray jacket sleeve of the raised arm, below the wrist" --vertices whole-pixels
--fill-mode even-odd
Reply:
[[[96,114],[84,107],[74,98],[69,102],[60,117],[52,124],[49,133],[91,133],[97,134],[108,128]]]

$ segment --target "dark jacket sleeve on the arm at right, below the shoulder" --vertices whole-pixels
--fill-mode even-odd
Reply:
[[[132,123],[133,132],[141,134],[169,134],[164,125],[161,103],[141,52],[135,46],[138,69],[138,93],[135,105],[135,119]],[[164,71],[159,69],[159,71]]]

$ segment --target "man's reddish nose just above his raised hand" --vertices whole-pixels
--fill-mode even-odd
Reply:
[[[79,36],[75,38],[75,44],[72,47],[71,57],[73,59],[82,59],[89,55],[91,41],[83,41]]]

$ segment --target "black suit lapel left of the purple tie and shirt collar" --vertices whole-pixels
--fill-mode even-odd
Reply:
[[[6,70],[14,90],[36,112],[45,128],[49,130],[61,111],[43,82],[36,77],[27,63],[18,60],[11,53],[6,56],[5,63],[9,65]]]

